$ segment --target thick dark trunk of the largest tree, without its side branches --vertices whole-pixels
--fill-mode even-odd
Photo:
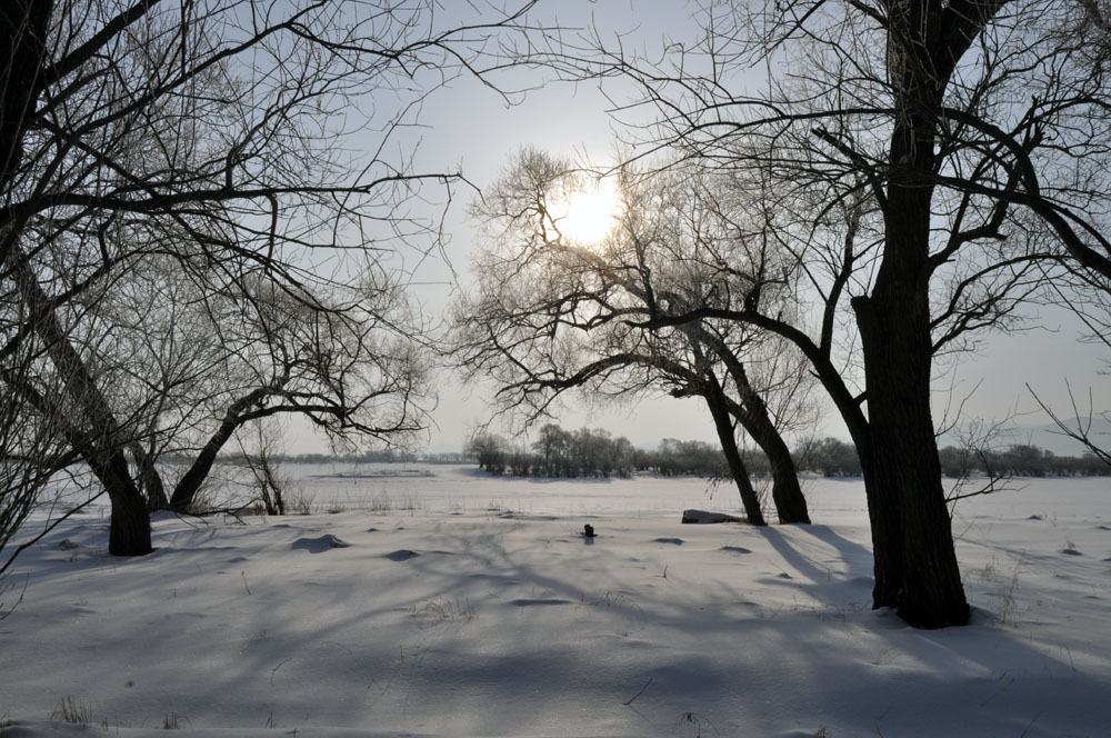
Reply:
[[[877,605],[893,604],[918,628],[965,625],[970,614],[930,409],[931,206],[945,88],[1001,4],[957,11],[952,4],[899,0],[888,8],[893,116],[887,192],[879,199],[883,257],[870,296],[853,299],[852,307],[867,386],[869,512],[877,562],[884,562]]]

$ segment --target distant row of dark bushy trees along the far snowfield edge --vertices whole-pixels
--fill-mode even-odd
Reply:
[[[825,477],[860,477],[860,459],[852,443],[837,438],[814,439],[792,451],[799,471]],[[1014,445],[1005,450],[975,451],[948,446],[939,451],[942,473],[1010,475],[1017,477],[1107,476],[1111,467],[1094,455],[1055,456],[1037,446]],[[497,433],[479,433],[468,443],[463,457],[491,473],[516,477],[628,477],[635,471],[662,476],[728,478],[729,467],[721,448],[705,441],[664,439],[655,449],[634,448],[624,437],[609,431],[580,428],[564,430],[554,423],[540,429],[531,443],[513,443]],[[742,452],[749,473],[770,473],[760,450]]]

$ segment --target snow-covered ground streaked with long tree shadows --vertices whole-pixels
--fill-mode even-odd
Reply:
[[[93,512],[26,551],[0,735],[1111,735],[1108,480],[960,503],[973,625],[921,631],[870,609],[859,481],[758,529],[680,525],[738,507],[698,479],[292,469],[318,512],[160,517],[137,559]]]

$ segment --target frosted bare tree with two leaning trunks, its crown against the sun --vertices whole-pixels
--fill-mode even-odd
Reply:
[[[456,311],[457,360],[471,375],[492,375],[503,406],[529,418],[577,388],[609,396],[662,390],[701,397],[749,519],[763,522],[737,450],[735,425],[764,449],[775,470],[780,519],[809,522],[790,452],[761,397],[783,378],[765,377],[757,388],[741,358],[774,353],[774,341],[712,319],[662,329],[633,325],[708,305],[728,308],[738,291],[731,282],[748,279],[749,261],[732,271],[723,268],[729,258],[742,258],[744,238],[722,219],[722,198],[705,207],[703,196],[713,183],[693,171],[643,181],[624,171],[617,229],[587,246],[561,232],[559,203],[581,187],[581,177],[567,161],[526,150],[477,207],[492,229],[492,247],[476,269],[478,297]],[[769,300],[772,291],[769,287]]]

